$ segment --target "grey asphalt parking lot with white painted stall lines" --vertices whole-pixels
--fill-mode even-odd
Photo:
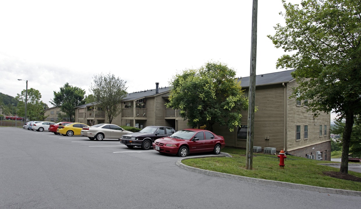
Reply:
[[[263,185],[182,169],[179,157],[0,127],[1,209],[360,208],[361,197]]]

